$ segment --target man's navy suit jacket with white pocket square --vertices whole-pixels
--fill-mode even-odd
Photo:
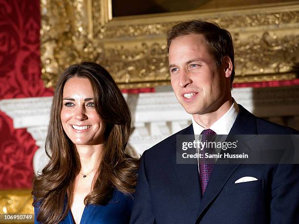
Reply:
[[[298,134],[239,107],[230,134]],[[176,134],[141,157],[131,224],[299,223],[299,165],[215,164],[202,197],[197,164],[176,164]]]

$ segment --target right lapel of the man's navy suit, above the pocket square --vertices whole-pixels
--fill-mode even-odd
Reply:
[[[256,118],[239,105],[239,113],[229,134],[256,134]],[[241,161],[240,161],[241,163]],[[206,208],[221,192],[227,180],[238,168],[239,164],[215,164],[206,191],[202,197],[198,211],[198,220],[205,214]]]

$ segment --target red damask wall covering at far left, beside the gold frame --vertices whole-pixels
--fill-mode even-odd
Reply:
[[[51,96],[43,86],[40,0],[0,0],[0,99]],[[0,189],[31,187],[35,141],[0,111]]]

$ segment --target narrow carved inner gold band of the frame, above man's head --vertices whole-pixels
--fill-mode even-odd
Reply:
[[[231,14],[234,14],[235,10],[232,10]],[[172,14],[172,13],[171,13]],[[202,19],[212,22],[217,22],[221,24],[222,27],[226,29],[235,29],[235,28],[248,28],[248,27],[261,27],[261,26],[271,26],[271,25],[284,25],[284,24],[297,24],[299,22],[299,11],[295,12],[271,12],[271,13],[256,13],[248,15],[223,15],[215,17],[211,16],[198,16],[189,15],[186,16],[186,19],[175,19],[173,18],[172,22],[155,22],[155,20],[149,19],[149,22],[140,22],[140,24],[126,24],[117,20],[103,26],[101,29],[98,29],[95,32],[95,36],[100,39],[113,39],[113,38],[126,38],[126,37],[136,37],[136,36],[147,36],[147,35],[165,35],[173,25],[184,20],[192,19]],[[120,22],[119,22],[120,21]],[[128,19],[130,21],[130,19]],[[118,24],[121,23],[121,24]],[[135,19],[133,20],[135,22]]]

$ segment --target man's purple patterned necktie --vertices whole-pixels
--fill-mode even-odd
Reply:
[[[202,142],[212,142],[215,140],[216,137],[216,133],[211,130],[211,129],[207,129],[207,130],[203,130],[202,131],[202,138],[201,141]],[[209,153],[209,155],[211,153],[214,153],[214,148],[207,148],[204,147],[203,150],[201,151],[201,153],[203,153],[203,155],[205,155],[205,153]],[[199,178],[200,178],[200,183],[201,183],[201,194],[203,195],[205,193],[206,187],[208,185],[209,182],[209,178],[211,176],[211,173],[213,171],[214,168],[214,160],[209,159],[209,158],[202,158],[200,159],[200,164],[199,164]]]

